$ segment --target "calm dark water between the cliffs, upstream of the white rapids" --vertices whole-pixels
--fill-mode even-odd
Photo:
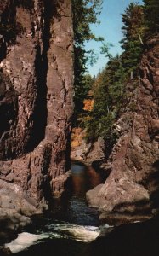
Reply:
[[[54,218],[71,224],[99,226],[99,212],[88,207],[86,192],[101,183],[99,173],[82,163],[71,163],[72,191],[69,199],[54,202]]]

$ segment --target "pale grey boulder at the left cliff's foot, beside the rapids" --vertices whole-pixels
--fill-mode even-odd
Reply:
[[[0,243],[8,241],[20,228],[31,223],[31,215],[41,213],[36,202],[22,189],[0,180]]]

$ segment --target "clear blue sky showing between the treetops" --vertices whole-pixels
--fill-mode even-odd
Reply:
[[[143,3],[142,0],[103,0],[103,9],[99,16],[100,25],[91,26],[92,31],[96,36],[105,38],[106,43],[111,43],[110,52],[112,55],[120,54],[122,49],[119,41],[122,39],[122,13],[128,7],[129,3]],[[94,52],[99,53],[101,43],[91,41],[86,44],[86,49],[94,49]],[[88,66],[88,72],[94,76],[99,73],[102,67],[105,67],[108,59],[104,55],[99,55],[99,60],[93,67]]]

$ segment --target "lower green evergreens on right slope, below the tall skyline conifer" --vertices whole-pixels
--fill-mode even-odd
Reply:
[[[116,140],[112,126],[124,101],[126,75],[117,55],[108,62],[94,82],[94,109],[87,123],[87,139],[104,137],[111,147]]]

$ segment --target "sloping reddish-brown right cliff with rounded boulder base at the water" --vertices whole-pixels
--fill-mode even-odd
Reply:
[[[147,44],[139,81],[127,85],[128,106],[116,123],[119,138],[108,160],[105,184],[88,191],[101,219],[127,222],[150,218],[159,196],[159,40]]]

